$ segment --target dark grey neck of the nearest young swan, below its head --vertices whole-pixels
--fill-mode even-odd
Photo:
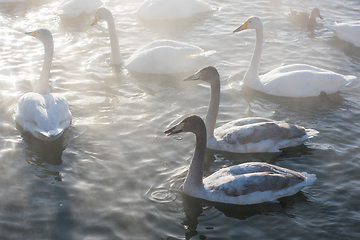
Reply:
[[[203,165],[206,151],[206,132],[205,127],[195,132],[196,147],[190,163],[188,175],[184,183],[184,189],[199,189],[203,186]]]

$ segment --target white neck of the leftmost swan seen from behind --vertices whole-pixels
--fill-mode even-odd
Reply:
[[[36,84],[33,92],[40,93],[42,95],[49,94],[50,86],[49,86],[49,78],[50,78],[50,68],[54,55],[54,43],[52,37],[47,39],[44,43],[44,64],[40,74],[40,78],[38,83]]]

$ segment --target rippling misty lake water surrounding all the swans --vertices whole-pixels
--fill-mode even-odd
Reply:
[[[282,64],[307,63],[360,77],[360,49],[322,26],[291,25],[289,7],[318,7],[324,22],[359,17],[350,1],[208,2],[218,11],[160,25],[134,14],[142,0],[107,1],[122,57],[168,38],[216,50],[208,61],[220,72],[218,125],[261,116],[320,134],[283,153],[207,151],[204,172],[249,161],[315,173],[298,194],[255,206],[212,204],[182,192],[194,136],[165,137],[182,117],[204,116],[209,86],[182,82],[190,73],[136,74],[109,64],[105,23],[92,15],[60,19],[55,0],[0,5],[0,239],[355,239],[360,221],[360,84],[321,98],[283,99],[240,92],[254,47],[252,30],[232,33],[249,16],[264,23],[260,73]],[[54,36],[51,87],[68,99],[73,122],[59,140],[21,135],[14,111],[39,77],[43,46],[25,35],[48,28]]]

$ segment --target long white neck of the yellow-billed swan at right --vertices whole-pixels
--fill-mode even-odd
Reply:
[[[260,29],[255,29],[255,30],[256,30],[256,44],[255,44],[253,56],[251,58],[250,67],[244,76],[244,83],[259,78],[259,67],[260,67],[260,59],[261,59],[262,44],[263,44],[263,28],[261,27]]]

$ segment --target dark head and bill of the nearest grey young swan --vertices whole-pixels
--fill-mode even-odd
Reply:
[[[198,115],[190,115],[184,118],[174,127],[166,130],[164,133],[166,134],[166,136],[170,136],[180,132],[198,133],[199,131],[205,132],[206,136],[206,128],[204,121]]]

